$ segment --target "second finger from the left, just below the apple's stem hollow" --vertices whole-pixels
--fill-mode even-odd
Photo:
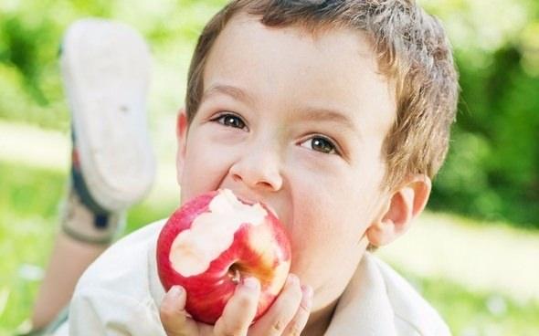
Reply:
[[[248,326],[255,318],[260,297],[257,278],[245,278],[228,300],[223,315],[217,320],[215,334],[218,336],[247,335]]]

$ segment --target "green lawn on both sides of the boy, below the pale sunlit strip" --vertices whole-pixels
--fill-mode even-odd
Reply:
[[[0,162],[0,335],[24,323],[36,297],[39,270],[48,260],[57,230],[65,173]],[[128,216],[128,232],[170,214],[174,200],[145,202]],[[417,278],[416,285],[455,335],[535,335],[537,302],[517,303],[491,292],[472,292],[442,278]]]

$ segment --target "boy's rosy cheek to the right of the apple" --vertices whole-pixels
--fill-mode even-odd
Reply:
[[[374,183],[352,173],[330,176],[303,172],[291,181],[292,268],[316,282],[357,262],[360,240],[375,214]]]

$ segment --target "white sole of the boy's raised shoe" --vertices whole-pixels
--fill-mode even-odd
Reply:
[[[148,47],[129,26],[79,20],[64,37],[60,67],[84,181],[99,205],[125,209],[148,193],[155,174]]]

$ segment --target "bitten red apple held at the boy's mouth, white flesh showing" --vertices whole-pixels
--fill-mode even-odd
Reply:
[[[291,267],[291,247],[279,219],[260,203],[224,189],[187,202],[168,219],[157,241],[164,289],[182,286],[185,310],[214,324],[245,277],[260,281],[255,320],[270,308]]]

